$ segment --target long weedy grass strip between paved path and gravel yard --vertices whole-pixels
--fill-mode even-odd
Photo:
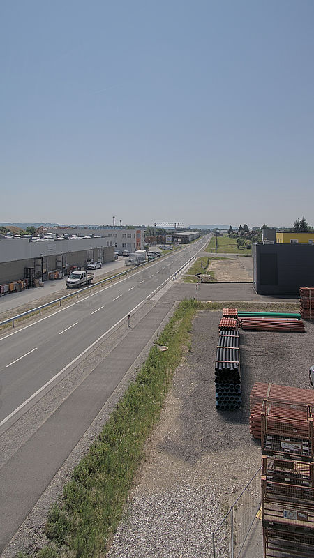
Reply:
[[[142,459],[144,442],[160,410],[188,342],[195,301],[179,304],[87,455],[75,467],[59,504],[53,506],[46,534],[64,556],[105,555],[123,513],[128,490]],[[44,550],[47,552],[46,547]]]

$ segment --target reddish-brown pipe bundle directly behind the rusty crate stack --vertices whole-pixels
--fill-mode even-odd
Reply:
[[[314,405],[314,390],[278,384],[254,384],[250,395],[250,432],[254,438],[261,437],[261,412],[264,400],[276,400],[294,405]]]

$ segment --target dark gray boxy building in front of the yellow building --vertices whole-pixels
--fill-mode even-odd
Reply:
[[[314,287],[313,244],[253,244],[253,285],[257,294],[299,294]]]

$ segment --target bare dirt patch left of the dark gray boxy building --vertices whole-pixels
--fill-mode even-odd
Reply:
[[[209,273],[213,271],[214,278],[219,282],[253,281],[253,260],[252,258],[244,257],[237,257],[234,259],[213,259],[211,260],[207,271]]]

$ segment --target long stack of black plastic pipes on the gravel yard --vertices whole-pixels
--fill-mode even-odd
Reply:
[[[235,411],[241,407],[239,331],[223,329],[215,361],[216,408]]]

